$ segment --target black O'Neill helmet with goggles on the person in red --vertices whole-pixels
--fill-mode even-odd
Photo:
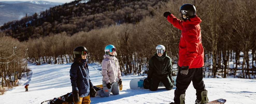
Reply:
[[[183,4],[180,7],[180,16],[183,20],[193,18],[196,16],[196,7],[192,4]]]

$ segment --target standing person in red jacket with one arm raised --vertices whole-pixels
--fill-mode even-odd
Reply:
[[[185,104],[185,92],[191,83],[196,89],[196,103],[208,103],[207,90],[203,81],[204,49],[200,25],[201,19],[196,15],[196,8],[192,4],[180,7],[182,20],[177,19],[170,12],[163,14],[174,27],[182,30],[179,42],[178,74],[174,102],[171,104]]]

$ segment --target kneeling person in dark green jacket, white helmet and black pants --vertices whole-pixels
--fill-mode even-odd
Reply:
[[[174,81],[172,79],[172,60],[166,55],[165,46],[158,45],[155,55],[148,61],[148,74],[143,82],[145,89],[156,91],[162,82],[166,90],[172,90]]]

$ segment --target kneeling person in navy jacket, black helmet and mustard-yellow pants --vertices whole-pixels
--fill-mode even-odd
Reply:
[[[90,90],[96,96],[96,91],[91,83],[88,63],[87,49],[84,46],[79,46],[74,49],[75,58],[70,68],[70,80],[72,85],[74,104],[89,104]]]

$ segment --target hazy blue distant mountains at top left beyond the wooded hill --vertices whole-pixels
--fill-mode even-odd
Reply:
[[[62,3],[47,1],[0,2],[0,25],[3,25],[8,21],[21,19],[26,16],[26,14],[29,16],[61,4]]]

